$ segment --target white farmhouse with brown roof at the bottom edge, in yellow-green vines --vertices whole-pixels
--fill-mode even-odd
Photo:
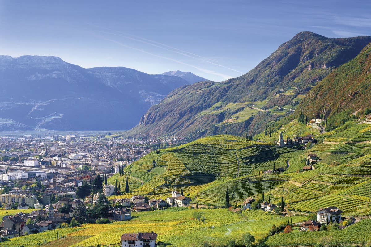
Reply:
[[[121,247],[155,247],[157,234],[151,233],[125,233],[121,235]]]

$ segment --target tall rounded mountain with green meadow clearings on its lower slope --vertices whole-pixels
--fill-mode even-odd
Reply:
[[[305,94],[336,67],[353,59],[369,42],[370,36],[331,39],[311,32],[298,33],[243,76],[175,89],[152,106],[127,134],[196,139],[224,133],[259,133],[266,123],[284,116],[264,109],[298,104],[299,94]]]

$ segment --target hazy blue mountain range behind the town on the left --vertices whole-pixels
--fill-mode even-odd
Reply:
[[[0,118],[54,130],[130,129],[188,84],[124,67],[84,69],[53,56],[0,56],[0,83]]]

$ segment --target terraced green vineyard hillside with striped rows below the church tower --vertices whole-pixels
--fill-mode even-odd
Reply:
[[[315,134],[318,143],[310,150],[279,147],[272,143],[280,131],[284,138]],[[273,203],[283,197],[294,211],[338,206],[345,216],[371,216],[371,126],[347,122],[331,132],[318,133],[317,128],[291,122],[271,137],[264,133],[254,137],[264,142],[219,135],[152,152],[126,168],[130,192],[119,197],[141,194],[165,199],[172,190],[183,189],[194,204],[220,207],[228,187],[232,205],[249,196],[260,198],[264,192]],[[319,162],[314,170],[303,171],[309,153],[317,154]],[[273,163],[285,171],[263,173]],[[124,181],[126,175],[120,179]]]

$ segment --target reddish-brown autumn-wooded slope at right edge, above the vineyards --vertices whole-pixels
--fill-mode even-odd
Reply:
[[[313,87],[296,114],[328,118],[332,127],[371,112],[371,43]]]

